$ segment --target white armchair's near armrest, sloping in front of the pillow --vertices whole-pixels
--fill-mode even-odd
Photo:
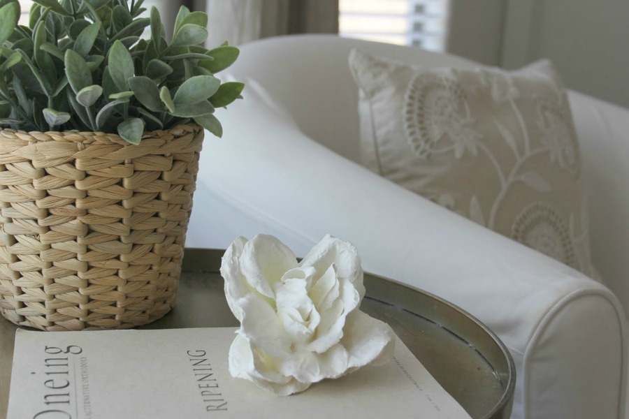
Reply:
[[[364,270],[496,332],[516,364],[514,418],[621,417],[626,325],[605,286],[331,152],[254,87],[220,112],[224,138],[205,140],[188,247],[268,233],[304,255],[330,233]]]

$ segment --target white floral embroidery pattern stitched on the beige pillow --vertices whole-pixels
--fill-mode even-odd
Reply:
[[[549,98],[537,98],[537,125],[541,134],[539,146],[533,145],[526,126],[523,112],[517,100],[520,91],[514,84],[512,75],[498,68],[482,68],[478,70],[479,82],[491,92],[491,99],[496,103],[509,103],[515,119],[519,122],[521,132],[509,130],[496,117],[493,123],[496,131],[514,153],[515,164],[509,170],[503,170],[498,164],[499,156],[490,147],[485,147],[479,140],[483,135],[475,131],[477,119],[472,117],[468,96],[475,94],[477,87],[467,85],[465,88],[454,75],[435,73],[417,73],[408,84],[403,101],[404,131],[406,139],[413,151],[421,159],[428,160],[433,153],[454,151],[456,159],[461,159],[465,150],[477,156],[478,149],[487,156],[496,170],[501,189],[491,203],[489,214],[484,214],[478,196],[472,195],[469,204],[468,218],[476,223],[496,229],[496,216],[509,189],[519,182],[526,184],[539,193],[549,193],[552,187],[538,172],[526,171],[526,162],[538,154],[548,153],[551,163],[557,163],[572,175],[577,175],[580,165],[578,145],[574,145],[574,126],[563,111],[561,96],[558,101]],[[468,93],[469,91],[469,93]],[[519,150],[515,140],[523,141],[523,150]],[[448,138],[453,145],[438,148],[440,140]],[[459,214],[454,198],[447,195],[449,210]],[[439,202],[439,201],[438,201]],[[570,214],[571,217],[574,214]],[[536,202],[528,205],[515,219],[512,226],[514,240],[526,244],[547,256],[579,268],[572,248],[572,237],[565,222],[549,205]]]

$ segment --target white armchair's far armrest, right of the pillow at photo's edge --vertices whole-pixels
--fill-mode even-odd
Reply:
[[[583,156],[592,261],[629,315],[629,109],[570,91]]]

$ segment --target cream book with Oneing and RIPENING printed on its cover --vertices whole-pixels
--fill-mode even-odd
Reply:
[[[236,328],[17,330],[13,418],[469,418],[400,339],[393,361],[280,397],[229,374]]]

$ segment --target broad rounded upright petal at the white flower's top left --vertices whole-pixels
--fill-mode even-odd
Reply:
[[[296,265],[295,253],[271,235],[256,235],[240,256],[240,270],[247,283],[269,298],[274,297],[273,284]]]

